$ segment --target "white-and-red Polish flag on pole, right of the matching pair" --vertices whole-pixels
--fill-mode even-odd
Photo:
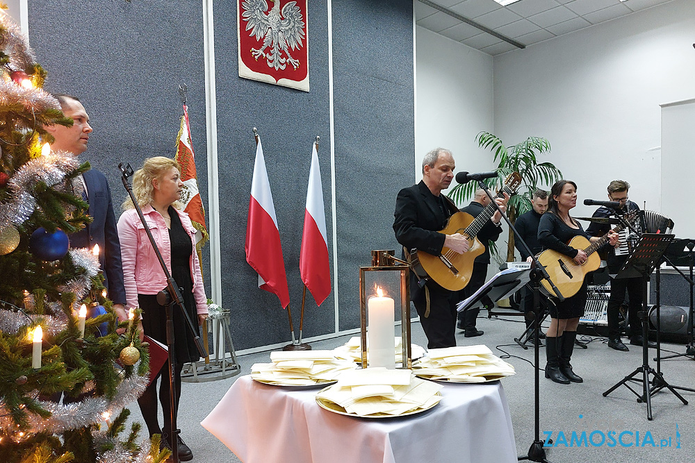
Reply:
[[[300,273],[304,285],[321,305],[331,294],[331,271],[328,265],[328,239],[326,236],[326,212],[323,208],[321,171],[318,167],[316,143],[311,152],[309,188],[306,191],[304,232],[300,251]]]

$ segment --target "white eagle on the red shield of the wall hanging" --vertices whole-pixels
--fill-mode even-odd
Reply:
[[[268,62],[268,67],[285,69],[286,62],[289,62],[295,69],[300,66],[299,60],[295,60],[290,55],[290,48],[294,51],[302,47],[304,38],[304,19],[302,11],[297,6],[296,1],[288,1],[280,11],[280,0],[270,0],[273,6],[268,10],[268,3],[265,0],[245,0],[241,3],[244,11],[242,17],[246,24],[246,30],[251,31],[251,37],[256,36],[256,40],[263,37],[263,47],[251,49],[251,55],[258,60],[263,56]],[[267,52],[264,50],[268,49]],[[287,55],[287,58],[282,56]]]

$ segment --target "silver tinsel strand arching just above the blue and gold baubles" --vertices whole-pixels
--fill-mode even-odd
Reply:
[[[67,173],[80,166],[79,160],[65,151],[50,153],[26,162],[8,181],[10,201],[0,203],[0,229],[23,224],[36,208],[36,199],[31,195],[33,187],[40,181],[56,191],[77,191],[77,187],[64,182]]]

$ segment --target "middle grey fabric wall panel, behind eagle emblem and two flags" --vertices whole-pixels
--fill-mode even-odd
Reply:
[[[304,224],[311,143],[321,137],[319,161],[327,208],[332,265],[331,163],[328,85],[328,12],[309,1],[309,81],[311,92],[269,85],[238,76],[236,2],[215,3],[215,59],[218,96],[220,226],[224,305],[233,314],[236,348],[288,342],[287,314],[275,294],[257,288],[245,260],[246,219],[256,155],[252,128],[263,142],[290,289],[290,307],[299,328],[302,280],[299,255]],[[334,294],[318,308],[306,295],[304,336],[334,331]]]

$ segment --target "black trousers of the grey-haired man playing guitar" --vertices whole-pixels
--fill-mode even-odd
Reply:
[[[427,336],[427,348],[442,348],[456,346],[456,303],[458,292],[446,289],[430,291],[430,313],[427,311],[427,299],[423,297],[413,300],[415,309],[420,315],[420,325]]]

